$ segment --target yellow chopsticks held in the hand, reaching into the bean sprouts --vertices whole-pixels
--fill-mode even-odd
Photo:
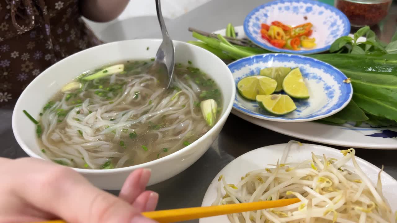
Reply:
[[[232,213],[241,213],[245,211],[255,211],[268,208],[278,208],[300,202],[298,198],[269,200],[252,203],[241,204],[225,204],[218,206],[197,207],[197,208],[180,208],[161,211],[143,212],[142,215],[159,223],[170,223],[177,221],[187,221],[203,217],[212,217],[217,215],[225,215]],[[44,221],[40,223],[66,223],[62,220]]]

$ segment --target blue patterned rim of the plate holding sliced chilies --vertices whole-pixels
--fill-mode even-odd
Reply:
[[[266,50],[270,50],[272,52],[283,52],[283,53],[291,53],[291,54],[316,54],[316,53],[320,53],[320,52],[324,52],[330,49],[331,44],[328,44],[327,46],[324,46],[322,48],[316,48],[313,50],[287,50],[287,49],[280,49],[274,46],[268,46],[266,44],[263,44],[262,42],[259,42],[258,40],[256,40],[256,38],[254,37],[254,35],[251,33],[251,31],[249,31],[249,22],[251,17],[257,13],[259,10],[262,10],[265,7],[271,7],[271,6],[276,6],[277,4],[283,4],[283,3],[306,3],[306,4],[312,4],[315,6],[320,6],[325,8],[325,10],[329,10],[332,13],[335,13],[339,19],[343,22],[344,25],[344,29],[342,32],[342,35],[339,35],[337,38],[342,37],[342,36],[347,36],[350,33],[350,22],[349,19],[347,19],[346,15],[343,14],[341,11],[339,11],[337,8],[330,6],[328,4],[322,3],[322,2],[318,2],[318,1],[314,1],[314,0],[276,0],[273,2],[269,2],[266,4],[263,4],[261,6],[258,6],[256,8],[254,8],[254,10],[252,10],[246,17],[244,20],[244,32],[245,35],[247,35],[247,37],[254,42],[256,45],[266,49]],[[335,38],[334,40],[336,40],[337,38]]]

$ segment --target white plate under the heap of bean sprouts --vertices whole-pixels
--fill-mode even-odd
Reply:
[[[237,157],[235,160],[227,164],[219,173],[216,175],[214,180],[208,186],[207,192],[204,195],[201,206],[210,206],[216,198],[216,191],[218,188],[218,178],[221,174],[224,175],[227,183],[237,184],[246,173],[256,169],[266,168],[267,164],[274,164],[278,159],[281,158],[284,148],[287,144],[277,144],[271,146],[265,146],[252,150]],[[310,153],[314,152],[316,155],[325,154],[328,158],[342,158],[343,154],[340,150],[319,146],[314,144],[303,144],[299,146],[298,144],[292,144],[289,150],[286,162],[301,162],[310,159]],[[358,152],[358,155],[360,153]],[[378,173],[380,169],[371,163],[356,157],[358,165],[366,173],[372,183],[376,184],[378,179]],[[353,166],[351,162],[346,164],[347,166]],[[387,198],[393,211],[397,208],[397,181],[393,179],[389,174],[382,172],[382,187],[383,194]],[[222,189],[223,190],[223,189]],[[224,191],[222,191],[224,193]],[[200,223],[230,223],[226,215],[220,215],[215,217],[206,217],[200,219]]]

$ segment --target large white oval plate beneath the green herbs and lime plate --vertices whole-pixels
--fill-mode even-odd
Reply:
[[[238,38],[247,38],[243,26],[236,26],[235,31]],[[225,35],[226,30],[214,33]],[[349,36],[353,37],[351,34]],[[357,41],[365,42],[366,38],[360,37]],[[337,126],[316,122],[279,123],[257,119],[235,109],[231,113],[266,129],[312,142],[353,148],[397,149],[397,128],[355,127],[350,124]]]

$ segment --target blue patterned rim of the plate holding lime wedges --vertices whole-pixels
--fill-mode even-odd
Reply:
[[[251,56],[251,57],[247,57],[247,58],[242,58],[240,60],[236,60],[235,62],[229,63],[229,65],[227,65],[227,66],[229,67],[231,73],[233,74],[233,79],[235,80],[235,84],[236,84],[236,91],[238,92],[237,83],[243,77],[251,76],[254,73],[251,71],[251,73],[247,73],[247,74],[243,75],[243,77],[235,77],[234,73],[236,71],[242,69],[243,67],[247,67],[250,65],[252,66],[255,63],[268,62],[268,61],[272,61],[272,62],[291,62],[291,61],[293,61],[293,62],[296,62],[299,64],[310,65],[310,67],[316,67],[316,68],[320,67],[320,68],[325,69],[327,71],[327,73],[330,73],[332,75],[333,79],[337,83],[340,83],[339,88],[341,90],[341,94],[337,100],[337,103],[335,103],[331,108],[327,109],[325,112],[322,112],[322,113],[308,115],[303,118],[301,118],[301,117],[289,118],[289,117],[282,117],[282,116],[259,114],[257,112],[253,112],[247,108],[239,106],[239,104],[236,103],[236,102],[238,102],[237,94],[239,94],[239,93],[236,93],[235,101],[233,103],[233,108],[235,108],[235,109],[239,110],[240,112],[243,112],[247,115],[250,115],[252,117],[257,117],[257,118],[261,118],[261,119],[263,119],[262,117],[265,117],[266,120],[272,120],[272,121],[281,121],[281,120],[312,121],[312,120],[328,117],[336,112],[339,112],[342,108],[344,108],[345,106],[347,106],[347,104],[349,104],[349,102],[353,96],[352,85],[343,83],[343,81],[346,80],[347,77],[341,71],[339,71],[332,65],[322,62],[320,60],[316,60],[314,58],[306,57],[306,56],[291,55],[291,54],[278,54],[278,53],[276,53],[276,54],[259,54],[259,55],[255,55],[255,56]]]

